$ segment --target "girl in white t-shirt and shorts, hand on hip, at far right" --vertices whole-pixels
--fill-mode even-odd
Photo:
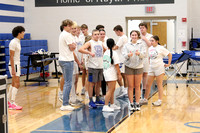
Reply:
[[[140,104],[148,104],[148,96],[151,91],[151,86],[156,78],[157,86],[158,86],[158,101],[153,102],[154,106],[160,106],[162,104],[163,97],[163,77],[165,74],[165,67],[169,67],[172,60],[172,54],[163,46],[160,46],[159,37],[153,36],[150,39],[151,47],[149,48],[149,72],[147,77],[147,88],[145,92],[144,99],[141,99]],[[163,62],[163,58],[168,56],[168,64]]]

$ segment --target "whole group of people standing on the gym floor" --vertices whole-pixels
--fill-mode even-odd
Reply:
[[[140,105],[148,104],[154,78],[157,81],[159,99],[152,104],[160,106],[165,67],[170,65],[172,55],[159,45],[158,36],[147,33],[147,28],[146,23],[140,23],[140,31],[132,30],[131,41],[128,41],[122,26],[117,25],[113,28],[119,36],[115,43],[112,38],[106,36],[103,25],[97,25],[90,34],[86,24],[78,26],[69,19],[63,20],[59,35],[59,65],[63,73],[59,90],[59,100],[62,101],[60,110],[73,110],[73,105],[82,104],[82,99],[77,96],[76,91],[79,70],[82,71],[81,94],[89,99],[91,108],[102,105],[104,112],[120,110],[120,106],[114,104],[117,82],[120,87],[116,97],[128,97],[129,109],[138,111]],[[22,26],[15,27],[12,31],[14,39],[9,44],[9,70],[12,76],[12,85],[8,93],[9,109],[22,109],[15,103],[15,97],[20,82],[20,39],[24,37],[24,32]],[[165,56],[168,56],[168,64],[163,63]],[[141,84],[143,99],[140,99]],[[100,98],[100,88],[105,100]],[[93,96],[96,96],[95,101]]]

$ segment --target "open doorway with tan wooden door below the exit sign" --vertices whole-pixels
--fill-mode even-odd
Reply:
[[[136,17],[126,18],[127,20],[127,35],[130,40],[130,32],[139,30],[138,25],[141,22],[147,23],[147,32],[152,35],[157,35],[160,38],[159,43],[166,47],[170,52],[175,52],[175,24],[176,17]]]

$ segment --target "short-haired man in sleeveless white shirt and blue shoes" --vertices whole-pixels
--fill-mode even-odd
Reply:
[[[99,31],[92,31],[92,40],[85,43],[79,52],[88,54],[88,81],[89,81],[89,107],[97,108],[96,105],[104,105],[104,102],[100,100],[99,91],[101,81],[103,79],[103,51],[105,48],[101,41],[99,41]],[[93,87],[96,89],[96,102],[93,101]]]

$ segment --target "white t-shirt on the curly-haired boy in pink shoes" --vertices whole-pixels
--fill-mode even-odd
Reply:
[[[9,52],[10,50],[15,51],[14,54],[14,64],[20,64],[20,52],[21,52],[21,44],[18,38],[14,38],[10,41],[9,44]],[[10,64],[10,62],[9,62]]]

